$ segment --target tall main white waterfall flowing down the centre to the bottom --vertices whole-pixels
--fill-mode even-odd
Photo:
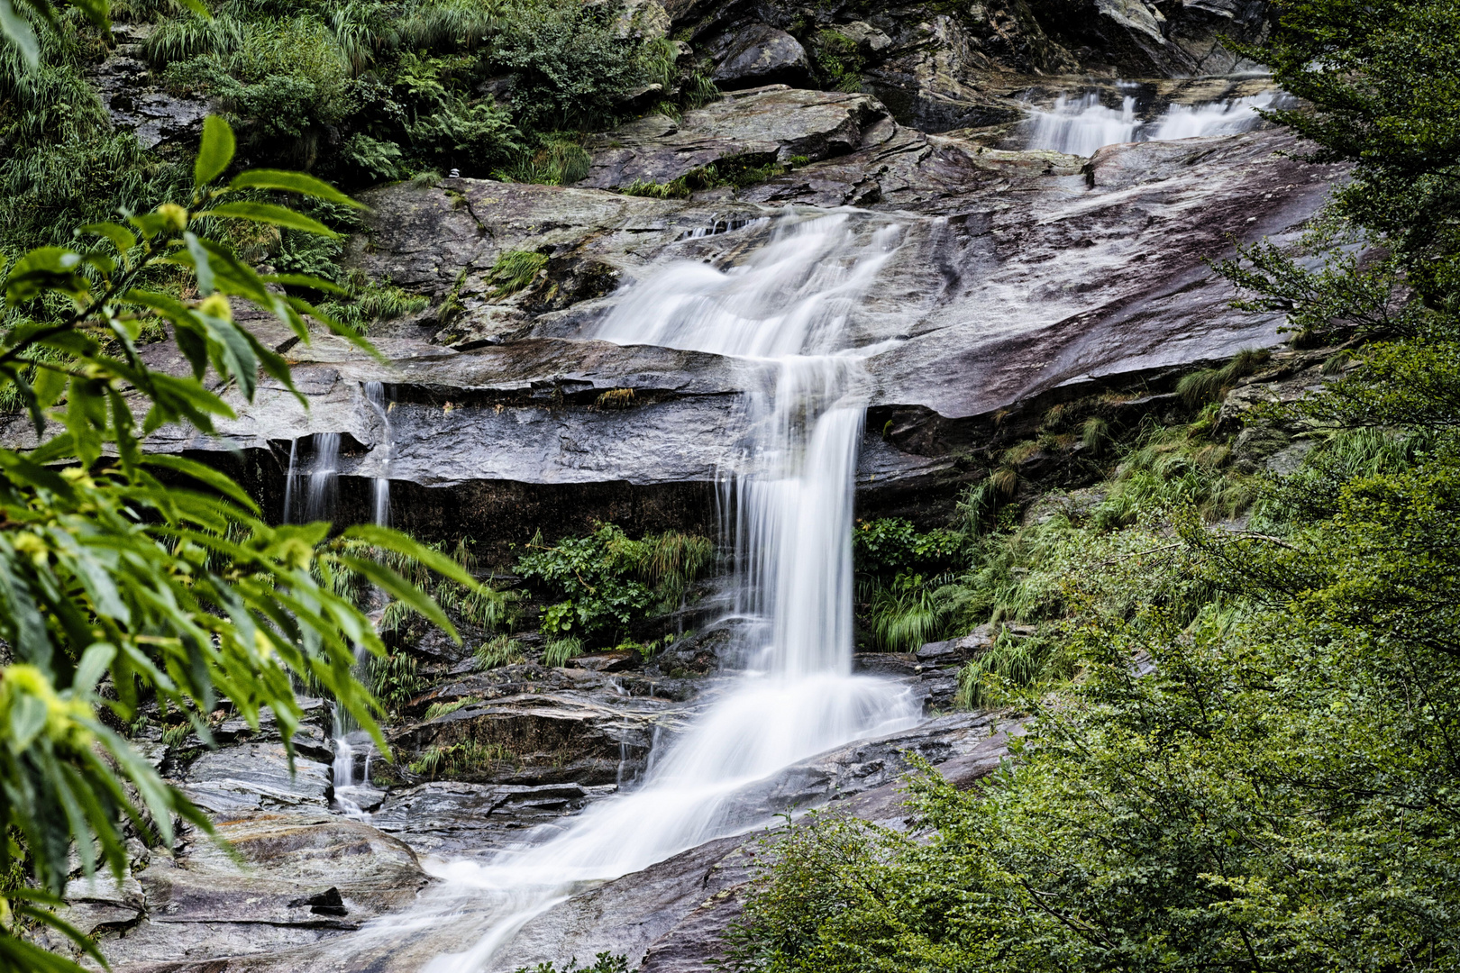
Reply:
[[[750,668],[653,754],[638,789],[485,864],[442,867],[434,913],[425,903],[366,935],[420,929],[464,899],[488,900],[495,919],[485,935],[425,967],[476,973],[583,883],[764,824],[756,785],[777,770],[915,721],[905,687],[850,674],[853,473],[867,349],[845,347],[847,325],[899,236],[895,222],[867,214],[785,214],[739,267],[667,264],[625,293],[597,337],[737,356],[753,376],[743,438],[721,471],[737,610],[753,623],[745,626]]]

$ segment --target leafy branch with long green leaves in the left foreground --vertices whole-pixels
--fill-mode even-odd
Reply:
[[[292,753],[298,678],[331,693],[384,750],[377,703],[350,670],[358,652],[385,648],[333,579],[364,575],[453,636],[441,608],[362,557],[362,544],[477,588],[458,563],[402,534],[365,525],[331,540],[328,524],[270,527],[223,474],[143,452],[145,438],[165,425],[212,433],[216,417],[234,414],[220,391],[237,387],[251,398],[260,369],[293,388],[285,360],[234,321],[237,301],[273,314],[301,340],[314,318],[371,350],[279,293],[280,284],[328,284],[260,276],[204,235],[222,220],[330,232],[253,198],[263,193],[356,204],[298,172],[250,171],[220,182],[232,156],[232,130],[209,118],[187,207],[164,203],[83,226],[77,239],[92,245],[32,249],[3,284],[10,308],[36,319],[0,340],[0,391],[19,395],[39,445],[0,448],[0,831],[15,836],[0,842],[0,874],[23,861],[28,885],[0,888],[0,970],[80,969],[28,942],[23,928],[34,923],[58,928],[101,958],[47,909],[64,890],[72,848],[88,875],[120,877],[128,829],[164,845],[174,818],[212,830],[98,710],[131,724],[156,702],[165,713],[188,715],[210,741],[200,715],[222,700],[254,728],[269,708]],[[239,198],[244,191],[250,198]],[[184,268],[196,298],[146,286],[168,265]],[[58,315],[57,298],[69,308]],[[190,373],[147,366],[139,336],[159,325]],[[204,381],[210,369],[216,376]],[[53,423],[57,435],[48,435]]]

